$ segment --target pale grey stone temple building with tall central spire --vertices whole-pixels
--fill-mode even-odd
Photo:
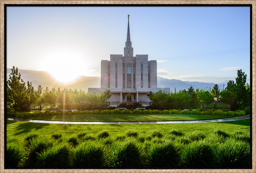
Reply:
[[[128,19],[127,39],[123,55],[110,55],[110,61],[101,61],[101,88],[88,88],[88,93],[109,89],[111,102],[149,101],[147,93],[170,88],[157,88],[156,60],[148,61],[148,55],[133,56]]]

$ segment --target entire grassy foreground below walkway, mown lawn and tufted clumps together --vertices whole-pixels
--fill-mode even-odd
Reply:
[[[6,132],[10,167],[250,166],[250,119],[111,125],[7,121]]]

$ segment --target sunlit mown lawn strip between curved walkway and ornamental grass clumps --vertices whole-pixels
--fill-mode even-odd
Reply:
[[[77,135],[81,132],[97,135],[102,130],[106,130],[110,135],[124,134],[128,129],[133,129],[138,134],[147,134],[152,130],[159,130],[167,133],[173,129],[181,130],[184,133],[193,131],[202,131],[210,134],[215,129],[223,130],[227,133],[234,131],[242,131],[250,135],[250,119],[237,120],[229,122],[213,122],[213,123],[179,123],[179,124],[46,124],[46,123],[29,123],[7,121],[7,139],[9,136],[15,136],[24,139],[30,132],[51,136],[58,133],[62,135]]]

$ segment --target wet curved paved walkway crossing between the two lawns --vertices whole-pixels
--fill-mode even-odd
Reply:
[[[22,121],[32,123],[50,123],[50,124],[173,124],[173,123],[207,123],[207,122],[225,122],[225,121],[236,121],[250,119],[250,115],[234,117],[234,118],[223,118],[217,120],[186,120],[186,121],[49,121],[49,120],[32,120],[25,118],[11,118],[7,117],[10,121]]]

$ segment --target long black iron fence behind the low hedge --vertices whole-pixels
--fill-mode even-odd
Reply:
[[[237,103],[225,104],[221,102],[213,102],[210,104],[202,103],[154,103],[154,102],[104,102],[104,103],[36,103],[25,106],[24,111],[69,111],[69,110],[105,110],[105,109],[227,109],[236,110]]]

